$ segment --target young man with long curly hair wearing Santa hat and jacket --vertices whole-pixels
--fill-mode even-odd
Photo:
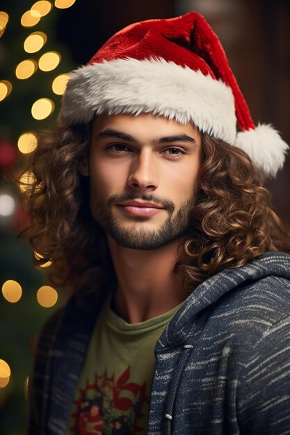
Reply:
[[[75,292],[38,340],[29,434],[289,434],[290,239],[262,186],[287,145],[207,22],[124,28],[60,122],[26,236]]]

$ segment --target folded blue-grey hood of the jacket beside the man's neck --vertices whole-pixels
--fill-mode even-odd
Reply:
[[[225,269],[209,277],[195,288],[179,311],[175,313],[163,331],[156,350],[177,347],[186,343],[191,334],[191,325],[196,316],[214,304],[226,293],[243,285],[245,281],[257,281],[268,276],[290,279],[290,255],[283,252],[267,252],[264,256],[247,263],[241,268]]]

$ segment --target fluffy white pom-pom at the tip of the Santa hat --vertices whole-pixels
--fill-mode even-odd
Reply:
[[[259,124],[255,130],[241,131],[233,144],[250,156],[252,163],[270,177],[283,166],[288,145],[271,124]]]

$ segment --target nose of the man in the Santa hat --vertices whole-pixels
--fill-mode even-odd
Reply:
[[[128,185],[134,190],[156,190],[158,170],[150,150],[142,150],[131,162]]]

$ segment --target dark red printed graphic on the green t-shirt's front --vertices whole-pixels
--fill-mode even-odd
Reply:
[[[70,430],[75,435],[132,435],[145,433],[142,425],[148,404],[143,385],[129,381],[130,366],[118,379],[95,373],[95,381],[79,388]]]

